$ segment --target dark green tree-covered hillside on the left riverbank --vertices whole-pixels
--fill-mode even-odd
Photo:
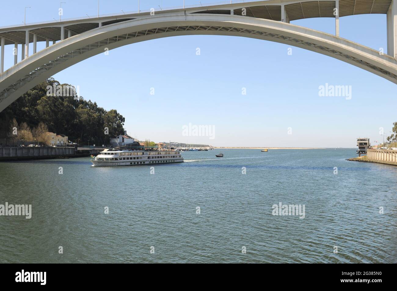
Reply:
[[[69,141],[81,145],[109,144],[110,137],[123,134],[125,118],[112,109],[98,107],[96,102],[82,96],[47,94],[47,86],[60,84],[53,78],[35,86],[0,112],[0,140],[3,145],[15,145],[17,141],[44,142],[44,132],[67,135]],[[70,86],[70,85],[68,85]],[[13,128],[17,135],[13,135]],[[105,135],[104,128],[109,134]]]

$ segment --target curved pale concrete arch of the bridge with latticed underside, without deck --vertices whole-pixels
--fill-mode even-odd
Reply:
[[[179,35],[229,35],[305,48],[375,73],[397,84],[397,60],[328,33],[239,15],[153,16],[98,27],[33,54],[0,75],[0,112],[48,77],[91,56],[127,44]]]

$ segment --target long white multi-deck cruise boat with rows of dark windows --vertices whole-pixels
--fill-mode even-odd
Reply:
[[[93,166],[130,166],[183,162],[179,151],[105,149],[91,159]]]

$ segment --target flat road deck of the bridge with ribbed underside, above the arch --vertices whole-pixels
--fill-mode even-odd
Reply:
[[[357,14],[383,13],[389,10],[392,0],[339,0],[339,17]],[[237,3],[236,3],[237,2]],[[242,8],[246,8],[247,17],[256,17],[262,19],[270,19],[281,21],[282,7],[285,8],[285,14],[289,21],[312,18],[312,17],[335,17],[334,8],[335,1],[319,0],[319,1],[232,1],[221,2],[222,4],[208,6],[189,6],[160,10],[154,9],[156,14],[164,13],[216,13],[230,14],[233,11],[235,15],[242,15]],[[99,17],[81,17],[74,19],[65,19],[63,21],[46,21],[41,23],[32,23],[27,25],[15,25],[8,27],[0,27],[0,38],[4,38],[4,44],[25,44],[26,31],[29,30],[29,42],[36,41],[59,41],[70,36],[74,36],[99,26],[110,25],[131,19],[147,17],[150,11],[140,11],[125,13],[99,15]],[[64,32],[61,32],[64,29]],[[34,36],[36,35],[36,36]]]

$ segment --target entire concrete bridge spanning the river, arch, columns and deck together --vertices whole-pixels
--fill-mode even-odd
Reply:
[[[0,111],[38,83],[104,48],[177,35],[233,35],[281,42],[332,56],[397,83],[397,0],[268,0],[156,13],[0,28]],[[339,16],[364,13],[387,14],[387,52],[391,56],[338,37]],[[310,17],[334,17],[336,36],[289,24]],[[39,41],[46,41],[46,48],[37,52]],[[33,55],[29,57],[31,42]],[[23,61],[18,63],[14,56],[14,66],[3,73],[4,46],[8,44],[15,48],[22,44]]]

